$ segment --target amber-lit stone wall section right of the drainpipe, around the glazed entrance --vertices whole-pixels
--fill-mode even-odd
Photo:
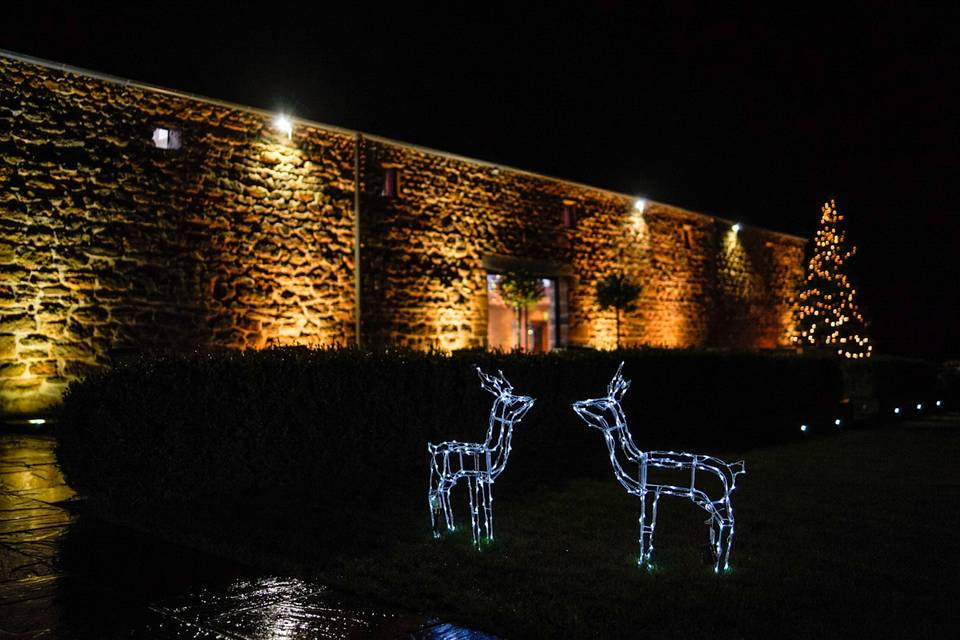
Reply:
[[[786,346],[803,276],[804,241],[543,176],[406,145],[363,143],[365,336],[447,349],[483,346],[491,258],[568,290],[568,341],[616,343],[616,318],[595,300],[620,271],[642,286],[621,343]],[[399,191],[383,197],[386,167]],[[575,228],[563,225],[572,203]]]

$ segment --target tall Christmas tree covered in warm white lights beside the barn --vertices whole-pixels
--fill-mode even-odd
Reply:
[[[843,216],[836,203],[824,203],[822,211],[807,279],[800,291],[794,341],[801,347],[826,349],[845,358],[869,358],[873,345],[848,273],[848,261],[857,249],[847,247]]]

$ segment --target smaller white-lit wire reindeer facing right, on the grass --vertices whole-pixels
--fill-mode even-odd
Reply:
[[[488,542],[493,541],[493,483],[507,466],[513,425],[520,422],[533,406],[533,398],[513,395],[513,387],[498,371],[499,377],[488,376],[477,367],[480,387],[496,399],[490,409],[487,439],[482,443],[441,442],[427,444],[430,452],[430,520],[433,537],[439,538],[443,526],[453,531],[453,510],[450,508],[450,489],[466,478],[470,493],[470,518],[473,543],[480,545],[479,509],[483,509],[483,528]],[[443,514],[443,523],[440,515]]]

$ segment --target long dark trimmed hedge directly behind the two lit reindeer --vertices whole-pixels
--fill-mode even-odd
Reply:
[[[761,445],[832,422],[843,396],[830,359],[657,349],[544,355],[406,350],[144,356],[71,385],[58,456],[81,493],[115,506],[319,500],[426,489],[428,441],[476,441],[491,396],[473,365],[502,369],[537,404],[516,427],[508,473],[531,482],[609,473],[603,438],[571,411],[620,360],[644,448]]]

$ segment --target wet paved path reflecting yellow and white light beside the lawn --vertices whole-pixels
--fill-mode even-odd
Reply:
[[[0,433],[0,640],[492,639],[82,517],[53,447]]]

